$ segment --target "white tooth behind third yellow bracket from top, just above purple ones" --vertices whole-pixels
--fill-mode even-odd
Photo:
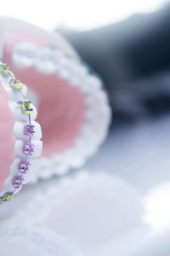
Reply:
[[[19,121],[28,121],[28,114],[22,112],[20,104],[18,104],[17,102],[9,101],[8,106],[14,114],[14,119]],[[33,104],[31,104],[31,108],[33,109],[33,111],[30,114],[31,120],[34,120],[37,118],[37,109],[34,107]]]

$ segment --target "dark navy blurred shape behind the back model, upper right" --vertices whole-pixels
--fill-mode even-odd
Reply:
[[[115,119],[170,112],[170,3],[93,31],[58,31],[104,80]]]

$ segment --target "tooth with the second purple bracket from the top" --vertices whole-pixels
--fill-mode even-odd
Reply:
[[[28,154],[26,149],[24,148],[29,148],[30,154]],[[42,153],[42,141],[40,140],[38,141],[31,140],[31,143],[23,142],[21,140],[16,140],[14,144],[14,154],[16,157],[24,158],[26,160],[27,156],[36,158],[36,157],[39,157],[41,153]]]

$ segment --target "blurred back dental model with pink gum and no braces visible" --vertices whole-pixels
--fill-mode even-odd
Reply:
[[[104,142],[111,109],[101,79],[59,34],[0,19],[3,61],[28,86],[38,109],[43,149],[34,179],[80,168]]]

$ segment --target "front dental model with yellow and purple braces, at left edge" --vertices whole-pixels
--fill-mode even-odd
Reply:
[[[0,204],[10,201],[31,177],[42,152],[37,109],[26,99],[26,85],[0,61]]]

